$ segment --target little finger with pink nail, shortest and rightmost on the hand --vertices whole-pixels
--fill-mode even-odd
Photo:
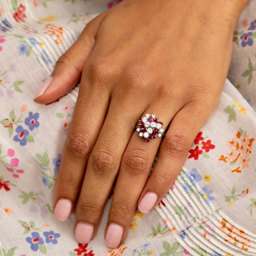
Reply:
[[[213,111],[209,106],[209,111],[204,112],[204,107],[184,106],[174,116],[159,149],[154,170],[140,195],[138,208],[141,212],[154,209],[176,180],[189,148]]]

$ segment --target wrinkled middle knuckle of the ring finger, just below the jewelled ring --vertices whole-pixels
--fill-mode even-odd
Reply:
[[[132,150],[125,152],[121,161],[121,165],[132,176],[144,176],[148,174],[148,170],[151,168],[151,162],[150,159],[148,159],[148,153],[138,148],[133,148]]]

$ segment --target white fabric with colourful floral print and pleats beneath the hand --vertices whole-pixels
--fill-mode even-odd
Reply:
[[[99,12],[119,0],[0,1],[0,255],[256,255],[256,3],[234,33],[219,103],[159,206],[135,212],[116,249],[78,244],[74,214],[53,216],[53,188],[78,86],[57,101],[32,98],[58,57]],[[156,159],[157,160],[157,159]],[[153,165],[154,166],[154,165]]]

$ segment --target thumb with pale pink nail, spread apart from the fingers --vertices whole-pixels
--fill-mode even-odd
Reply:
[[[34,102],[46,104],[71,91],[79,82],[84,64],[90,56],[105,13],[91,20],[75,43],[57,60],[52,74],[38,88]]]

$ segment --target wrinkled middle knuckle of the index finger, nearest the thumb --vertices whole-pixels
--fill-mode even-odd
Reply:
[[[91,142],[83,131],[74,131],[68,137],[67,153],[74,158],[84,158],[90,154]]]

